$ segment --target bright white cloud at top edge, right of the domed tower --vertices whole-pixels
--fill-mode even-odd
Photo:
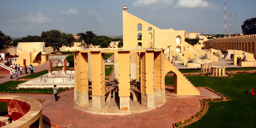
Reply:
[[[174,8],[200,8],[208,6],[209,3],[203,0],[179,0]]]

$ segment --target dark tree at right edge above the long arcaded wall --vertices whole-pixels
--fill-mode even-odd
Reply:
[[[256,18],[247,19],[241,25],[242,31],[246,35],[256,34]]]

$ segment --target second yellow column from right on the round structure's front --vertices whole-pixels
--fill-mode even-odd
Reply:
[[[154,51],[140,52],[141,61],[141,105],[154,107]]]

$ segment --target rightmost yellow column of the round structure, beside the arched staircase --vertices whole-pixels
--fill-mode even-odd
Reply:
[[[163,51],[155,52],[155,100],[165,100],[165,87],[164,87],[164,53]]]

